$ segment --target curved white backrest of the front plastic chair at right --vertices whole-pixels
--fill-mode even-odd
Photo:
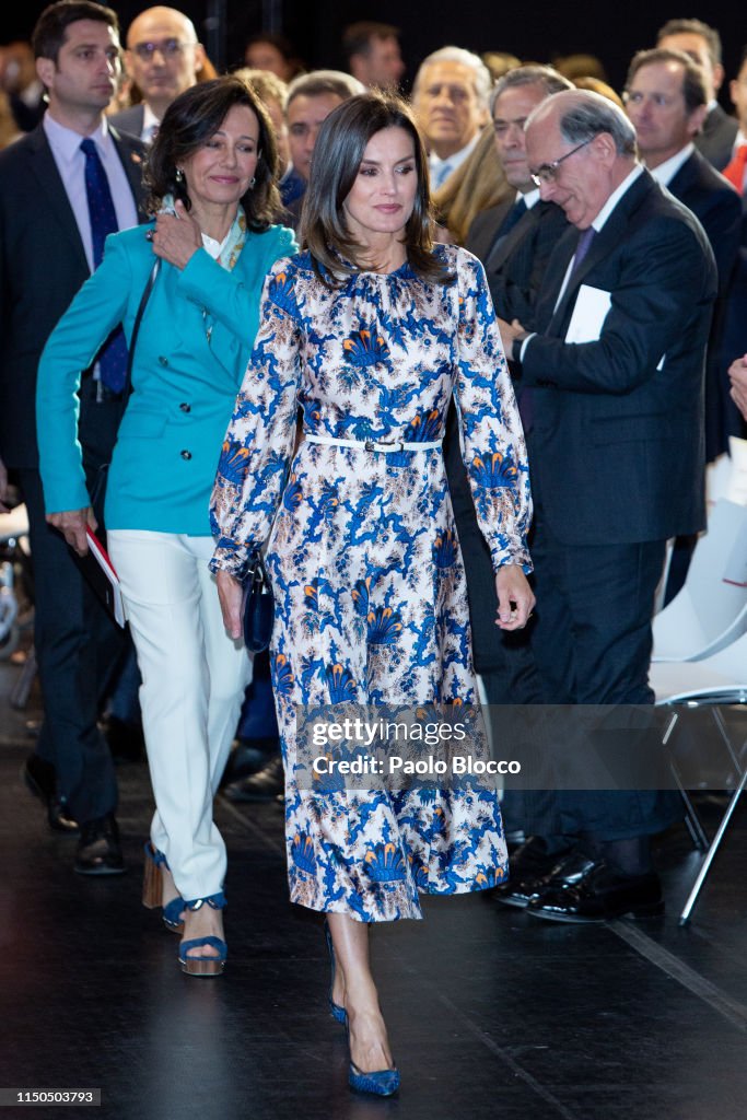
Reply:
[[[716,503],[684,586],[654,616],[654,662],[700,661],[747,633],[747,587],[723,579],[746,525],[747,507],[725,500]]]

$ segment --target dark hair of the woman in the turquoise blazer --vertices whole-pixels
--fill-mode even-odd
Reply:
[[[260,125],[260,158],[254,186],[241,199],[250,230],[261,232],[280,209],[278,194],[278,147],[267,109],[254,91],[233,74],[199,82],[171,102],[158,127],[146,162],[148,208],[158,209],[165,195],[174,195],[187,209],[192,202],[184,180],[177,181],[180,160],[194,156],[221,128],[234,105],[246,105]]]

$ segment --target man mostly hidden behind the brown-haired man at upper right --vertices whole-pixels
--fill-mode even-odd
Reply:
[[[723,112],[717,101],[723,82],[719,32],[700,19],[670,19],[660,29],[656,46],[683,50],[702,68],[708,112],[702,129],[695,137],[695,147],[717,171],[722,171],[731,159],[737,122],[734,116]]]

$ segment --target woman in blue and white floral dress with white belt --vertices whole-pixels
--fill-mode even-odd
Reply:
[[[299,788],[296,706],[476,702],[440,447],[452,392],[496,570],[497,624],[523,626],[533,604],[526,457],[495,315],[479,262],[431,245],[426,168],[396,99],[362,95],[327,118],[307,251],[277,262],[265,281],[213,494],[212,567],[234,636],[237,580],[267,542],[291,899],[328,915],[351,1083],[355,1070],[367,1082],[354,1088],[373,1092],[391,1092],[399,1075],[365,923],[420,917],[419,892],[499,881],[501,814],[484,790]],[[392,1076],[376,1081],[383,1066]]]

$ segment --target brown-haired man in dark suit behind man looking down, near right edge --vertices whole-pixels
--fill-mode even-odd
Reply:
[[[739,249],[741,205],[731,184],[693,147],[707,114],[706,100],[702,68],[680,50],[641,50],[631,63],[625,104],[641,157],[656,181],[693,212],[716,258],[719,293],[706,379],[706,458],[711,461],[728,448],[726,370],[734,355],[723,354],[721,339]]]

